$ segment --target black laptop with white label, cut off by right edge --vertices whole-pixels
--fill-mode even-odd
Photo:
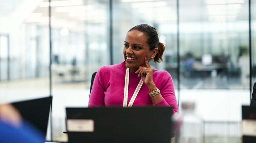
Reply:
[[[242,106],[243,143],[256,142],[256,107]]]

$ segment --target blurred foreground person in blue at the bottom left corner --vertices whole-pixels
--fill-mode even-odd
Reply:
[[[44,143],[44,137],[29,123],[22,120],[11,104],[0,105],[1,143]]]

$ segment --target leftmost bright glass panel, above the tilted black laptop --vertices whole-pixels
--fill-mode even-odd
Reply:
[[[49,96],[49,13],[39,3],[0,2],[0,102]]]

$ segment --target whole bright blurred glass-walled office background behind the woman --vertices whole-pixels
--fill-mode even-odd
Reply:
[[[67,141],[65,107],[88,104],[93,72],[123,61],[127,31],[155,27],[178,102],[206,142],[238,142],[256,81],[254,0],[0,0],[0,102],[53,96],[47,140]],[[251,71],[251,72],[250,72]],[[220,132],[221,131],[221,132]]]

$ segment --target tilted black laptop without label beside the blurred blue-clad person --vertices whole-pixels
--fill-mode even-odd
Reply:
[[[13,102],[23,119],[37,128],[45,137],[52,97]]]

